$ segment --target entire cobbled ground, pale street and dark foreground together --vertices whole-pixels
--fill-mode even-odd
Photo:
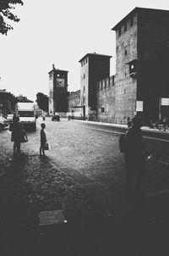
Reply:
[[[36,132],[27,132],[29,142],[22,143],[19,156],[13,156],[10,132],[0,133],[2,255],[159,255],[159,234],[168,227],[168,198],[126,196],[119,133],[46,119],[52,149],[40,158],[41,122]],[[165,168],[154,186],[168,187]],[[39,214],[53,210],[63,210],[68,222],[39,225]],[[162,237],[163,248],[165,242]]]

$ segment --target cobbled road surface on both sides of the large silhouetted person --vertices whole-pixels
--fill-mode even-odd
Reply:
[[[29,134],[30,147],[36,152],[39,151],[37,142],[40,124],[39,119],[37,131]],[[46,136],[52,145],[52,150],[48,151],[47,155],[53,164],[62,162],[64,171],[68,175],[73,175],[80,184],[90,183],[89,189],[98,186],[100,189],[110,189],[118,196],[123,196],[126,191],[125,166],[123,153],[119,153],[118,148],[121,131],[107,129],[100,125],[86,125],[78,121],[52,122],[46,119]],[[147,150],[155,156],[155,161],[147,164],[144,192],[152,193],[169,189],[169,142],[147,136],[144,142]],[[150,177],[153,177],[153,181]]]

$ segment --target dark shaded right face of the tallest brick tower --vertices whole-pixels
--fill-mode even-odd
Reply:
[[[158,120],[160,97],[169,97],[169,12],[140,10],[138,20],[140,64],[137,97],[144,101],[143,119],[149,123]],[[168,115],[168,109],[162,110],[162,116]]]

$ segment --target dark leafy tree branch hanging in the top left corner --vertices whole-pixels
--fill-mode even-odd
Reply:
[[[19,22],[19,18],[11,12],[15,4],[24,3],[22,0],[0,0],[0,33],[7,35],[9,30],[13,30],[12,25],[9,25],[5,19],[11,19],[14,22]]]

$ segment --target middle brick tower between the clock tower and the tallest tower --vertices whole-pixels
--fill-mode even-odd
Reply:
[[[96,114],[96,84],[110,76],[110,58],[112,56],[87,53],[79,60],[80,70],[80,105],[85,106],[85,115]]]

